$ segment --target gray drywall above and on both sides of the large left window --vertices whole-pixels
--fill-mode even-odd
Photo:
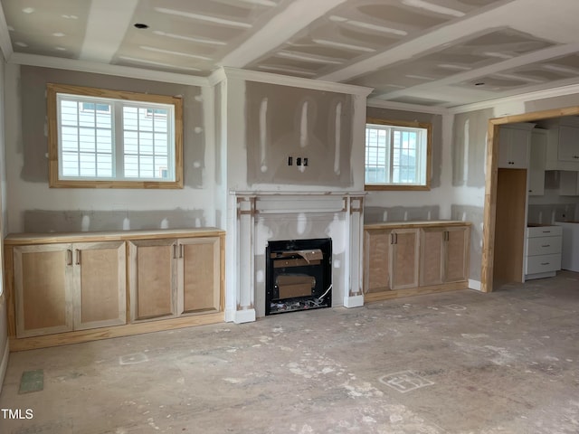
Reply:
[[[59,83],[109,90],[182,96],[184,101],[184,179],[185,185],[202,188],[204,170],[204,118],[201,88],[161,81],[137,80],[88,72],[53,70],[23,66],[20,71],[22,99],[22,179],[46,183],[48,180],[46,84]]]

